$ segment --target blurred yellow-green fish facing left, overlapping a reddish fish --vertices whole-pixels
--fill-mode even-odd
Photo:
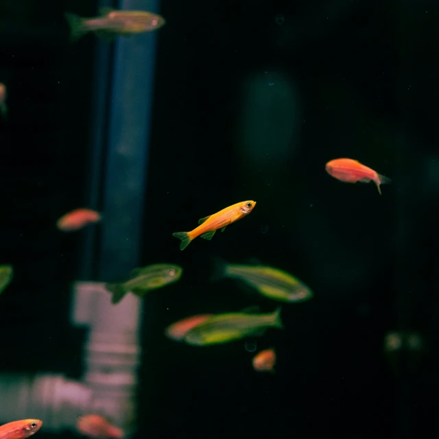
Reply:
[[[249,335],[261,335],[268,328],[283,328],[281,308],[273,313],[225,313],[208,318],[184,337],[187,344],[208,346],[233,342]]]

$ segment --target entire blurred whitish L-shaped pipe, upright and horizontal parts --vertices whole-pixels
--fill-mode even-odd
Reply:
[[[62,375],[0,375],[0,423],[39,418],[47,431],[75,429],[79,416],[99,414],[126,434],[135,421],[141,346],[141,300],[127,294],[117,305],[103,283],[73,285],[72,323],[90,331],[84,349],[84,378]]]

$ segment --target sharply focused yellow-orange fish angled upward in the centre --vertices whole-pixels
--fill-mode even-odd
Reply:
[[[224,232],[224,229],[238,219],[244,218],[248,215],[256,206],[256,202],[253,200],[241,201],[226,207],[213,215],[206,216],[198,221],[197,228],[191,230],[191,232],[176,232],[172,236],[181,239],[180,250],[184,250],[189,246],[192,239],[201,236],[204,239],[210,241],[215,235],[218,228]]]

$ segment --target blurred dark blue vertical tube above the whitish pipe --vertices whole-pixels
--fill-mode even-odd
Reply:
[[[158,12],[158,0],[119,0],[118,3],[119,10]],[[97,171],[101,174],[101,188],[98,189],[95,178],[92,191],[99,193],[101,200],[98,203],[103,213],[100,242],[95,246],[93,239],[89,239],[85,248],[89,253],[84,259],[89,267],[97,261],[93,273],[96,280],[120,280],[140,262],[155,54],[156,32],[115,40],[106,128],[96,132],[94,145],[96,170],[98,156],[101,163],[105,160],[102,172]],[[104,58],[104,65],[108,64],[110,57]],[[99,146],[100,142],[104,145]],[[86,275],[89,270],[85,265],[82,274]]]

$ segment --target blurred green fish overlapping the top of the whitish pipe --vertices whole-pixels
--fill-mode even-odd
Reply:
[[[178,281],[183,269],[171,263],[156,263],[144,268],[134,268],[128,281],[122,283],[107,283],[108,292],[112,294],[112,303],[120,302],[128,292],[139,297],[144,296],[152,289],[165,287],[169,283]]]

